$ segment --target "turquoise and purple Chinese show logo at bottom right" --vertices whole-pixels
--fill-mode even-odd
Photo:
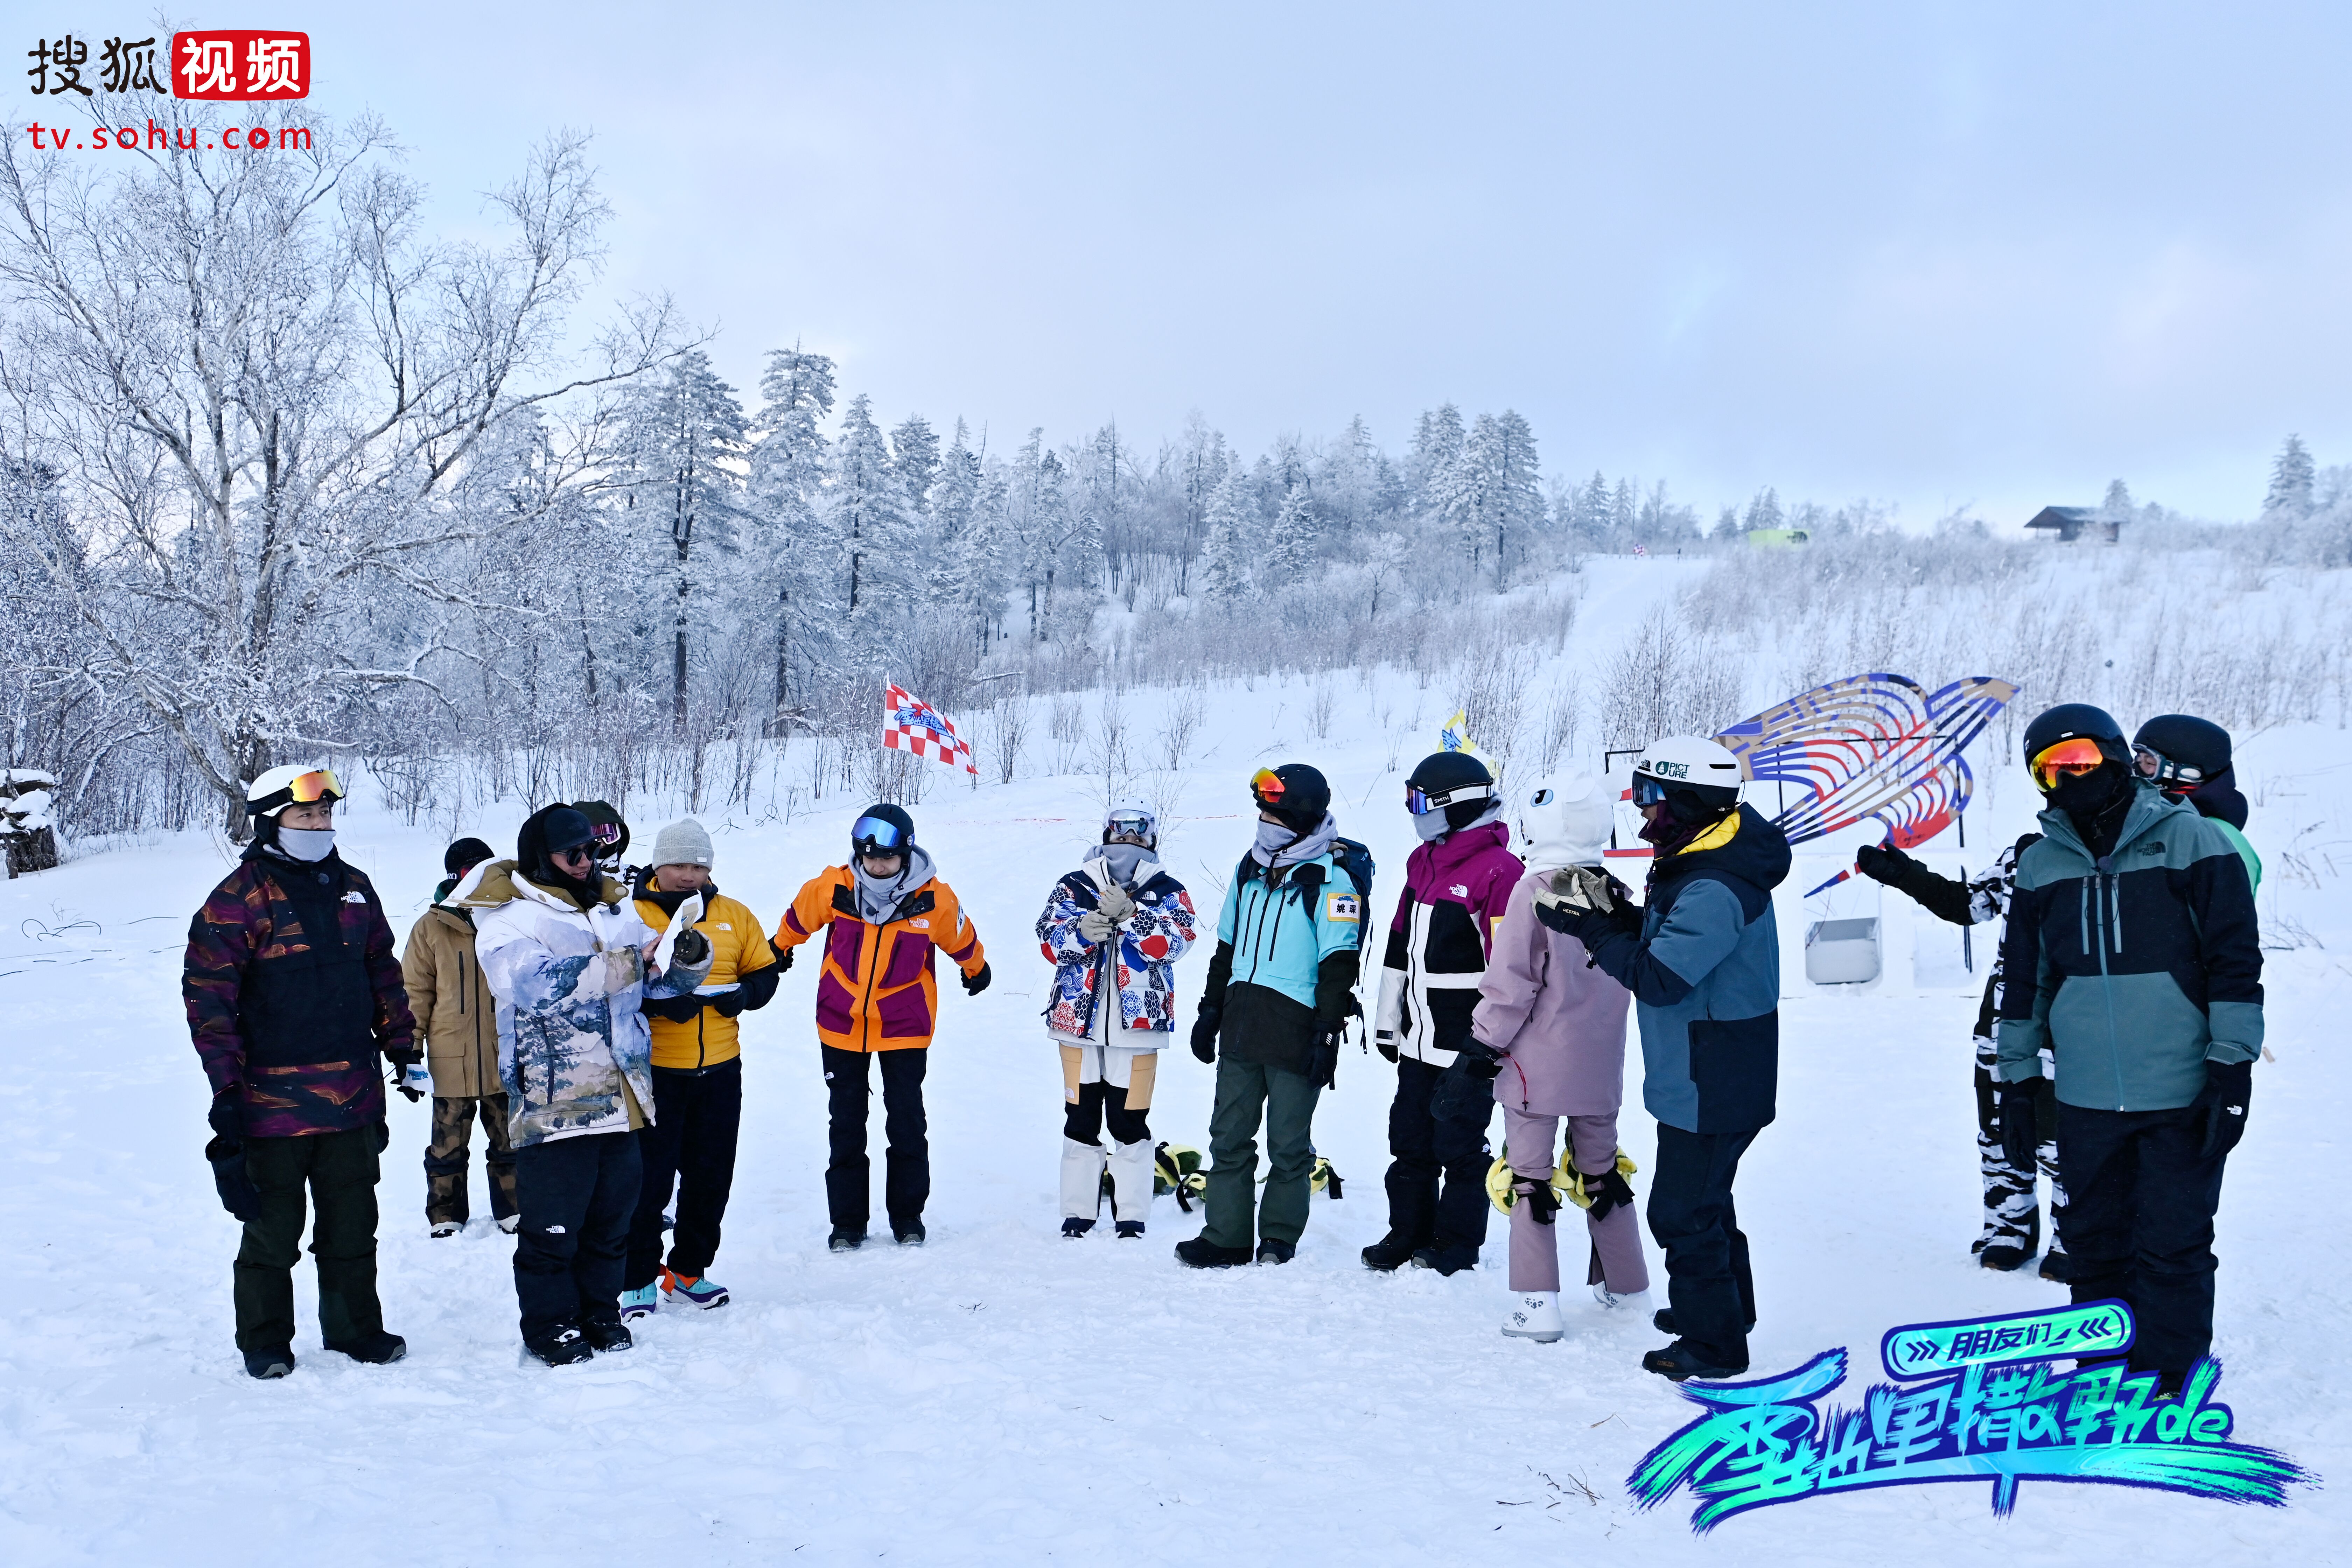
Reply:
[[[2220,1361],[2206,1356],[2178,1396],[2133,1373],[2131,1309],[2084,1302],[2056,1312],[1907,1324],[1879,1340],[1896,1382],[1860,1408],[1820,1408],[1846,1380],[1830,1349],[1762,1382],[1686,1382],[1705,1415],[1649,1450],[1625,1486],[1651,1509],[1675,1488],[1696,1497],[1700,1535],[1748,1509],[1870,1486],[1992,1481],[1992,1512],[2018,1505],[2018,1481],[2147,1486],[2223,1502],[2284,1507],[2319,1479],[2270,1448],[2232,1443],[2218,1403]],[[2053,1361],[2074,1361],[2060,1373]]]

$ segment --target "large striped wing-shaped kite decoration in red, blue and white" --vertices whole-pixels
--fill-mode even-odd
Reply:
[[[1757,783],[1804,790],[1773,818],[1790,844],[1877,820],[1889,844],[1917,849],[1966,811],[1976,776],[1962,752],[2016,693],[2016,682],[1990,675],[1940,691],[1907,675],[1849,675],[1766,708],[1717,741]]]

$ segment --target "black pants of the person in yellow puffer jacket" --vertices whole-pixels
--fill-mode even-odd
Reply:
[[[670,1272],[699,1279],[720,1255],[720,1220],[734,1187],[736,1128],[743,1126],[743,1058],[715,1067],[654,1067],[654,1121],[637,1128],[644,1185],[628,1222],[628,1269],[635,1291],[661,1274],[661,1211],[677,1187]]]

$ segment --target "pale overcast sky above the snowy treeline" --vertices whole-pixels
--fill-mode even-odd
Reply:
[[[313,101],[449,226],[590,127],[607,282],[746,402],[795,339],[997,442],[1402,451],[1451,400],[1548,473],[1915,524],[2112,477],[2241,517],[2288,430],[2352,461],[2343,5],[341,12]]]

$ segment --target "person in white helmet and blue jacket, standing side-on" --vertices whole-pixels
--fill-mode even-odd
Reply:
[[[1632,769],[1642,839],[1658,853],[1639,910],[1597,872],[1536,893],[1536,919],[1576,936],[1632,992],[1642,1103],[1658,1119],[1649,1234],[1665,1248],[1675,1342],[1642,1368],[1684,1378],[1748,1371],[1757,1291],[1731,1180],[1773,1119],[1780,1077],[1780,926],[1771,891],[1788,835],[1740,804],[1740,762],[1698,736],[1656,741]]]

